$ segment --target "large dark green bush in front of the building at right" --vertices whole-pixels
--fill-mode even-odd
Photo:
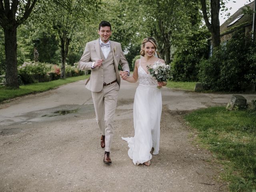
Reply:
[[[248,52],[252,40],[244,30],[235,32],[225,45],[214,48],[214,54],[200,63],[199,81],[206,90],[244,91],[250,84],[246,76],[252,72]]]

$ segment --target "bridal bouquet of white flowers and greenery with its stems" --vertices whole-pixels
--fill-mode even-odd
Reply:
[[[156,78],[158,82],[166,82],[169,78],[171,78],[171,69],[169,65],[166,65],[160,61],[154,62],[152,68],[147,66],[148,71],[151,76]],[[158,89],[161,89],[161,86],[157,86]]]

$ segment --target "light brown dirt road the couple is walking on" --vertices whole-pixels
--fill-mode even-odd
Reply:
[[[103,163],[100,131],[84,81],[0,105],[1,192],[227,191],[212,155],[193,143],[183,115],[225,105],[231,94],[162,89],[160,153],[152,166],[134,166],[121,136],[133,136],[137,84],[122,82],[115,116],[112,165]],[[256,95],[244,95],[247,100]]]

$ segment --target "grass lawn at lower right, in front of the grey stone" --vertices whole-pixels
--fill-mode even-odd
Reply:
[[[256,116],[224,107],[200,109],[185,116],[198,142],[224,165],[222,179],[232,192],[256,192]]]

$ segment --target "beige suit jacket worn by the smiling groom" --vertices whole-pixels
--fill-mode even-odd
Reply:
[[[130,71],[129,64],[124,56],[122,51],[121,44],[118,42],[110,41],[111,51],[114,56],[114,66],[116,71],[117,83],[120,86],[120,75],[118,72],[118,64],[122,66],[123,71]],[[96,62],[99,59],[103,59],[100,56],[100,43],[99,39],[88,42],[84,49],[84,54],[82,55],[78,68],[80,70],[92,70],[90,75],[90,80],[86,83],[86,88],[93,92],[100,92],[103,87],[103,68],[96,67],[91,68],[92,63]]]

